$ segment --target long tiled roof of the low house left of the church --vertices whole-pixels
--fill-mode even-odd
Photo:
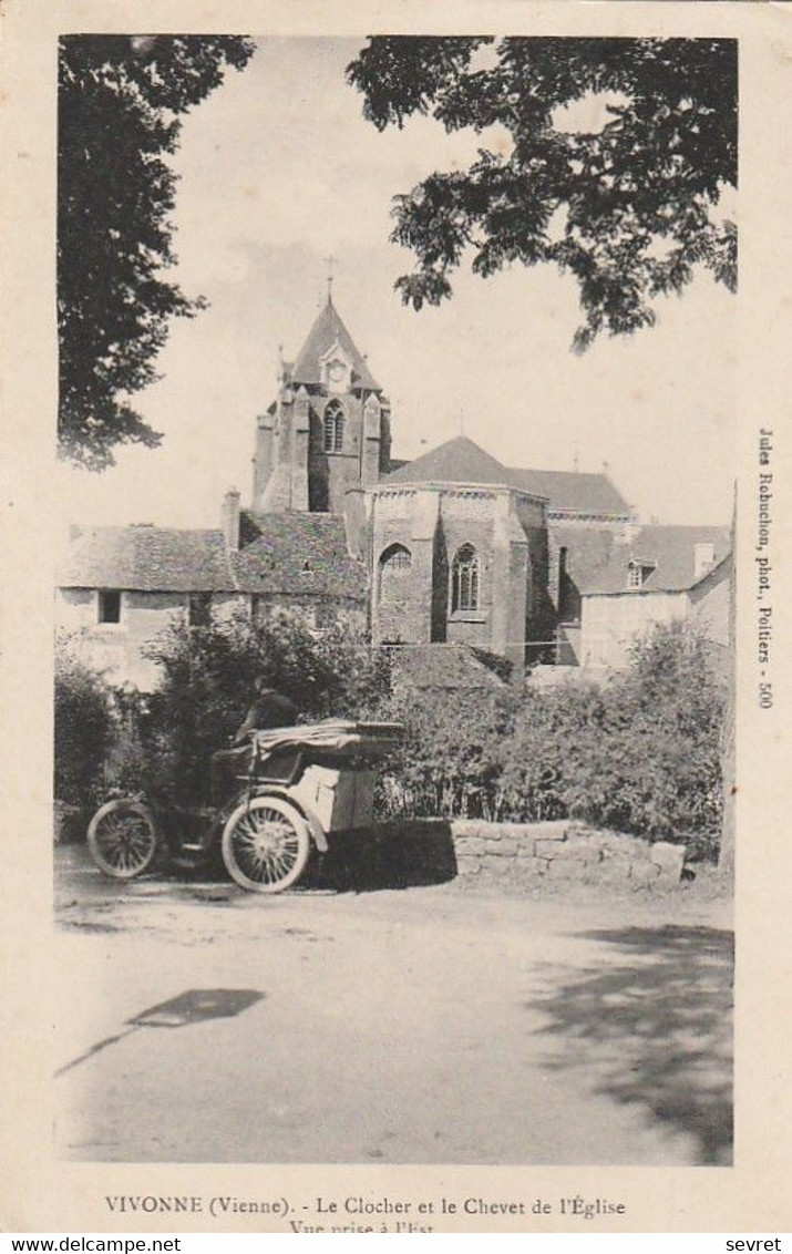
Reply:
[[[249,592],[366,597],[363,567],[350,557],[336,514],[242,512],[242,545],[221,530],[91,527],[73,540],[60,587],[140,592]]]

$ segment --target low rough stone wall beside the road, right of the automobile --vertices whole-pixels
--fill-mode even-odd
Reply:
[[[558,823],[484,823],[455,819],[451,839],[460,875],[487,872],[505,878],[535,878],[588,884],[677,884],[684,846],[650,844],[638,836]]]

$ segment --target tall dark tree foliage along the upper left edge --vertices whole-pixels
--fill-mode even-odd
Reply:
[[[237,35],[69,35],[59,48],[59,448],[102,470],[123,444],[160,435],[129,404],[153,382],[172,317],[189,300],[162,272],[174,262],[179,117],[242,69]]]

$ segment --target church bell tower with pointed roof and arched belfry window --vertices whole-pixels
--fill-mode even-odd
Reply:
[[[258,420],[253,508],[341,513],[350,489],[387,473],[390,411],[333,305],[332,273],[297,359],[281,356],[278,374],[278,399]]]

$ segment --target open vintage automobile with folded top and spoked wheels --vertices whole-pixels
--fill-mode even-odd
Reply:
[[[282,893],[311,849],[373,820],[376,766],[401,739],[391,722],[327,721],[254,731],[242,750],[216,754],[212,804],[178,808],[140,794],[100,806],[88,829],[96,867],[134,879],[163,849],[183,869],[217,850],[228,874],[254,893]]]

